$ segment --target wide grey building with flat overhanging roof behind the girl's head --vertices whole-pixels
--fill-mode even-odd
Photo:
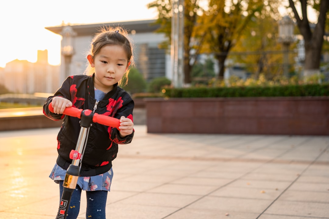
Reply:
[[[70,75],[83,74],[87,67],[87,53],[95,33],[101,28],[123,27],[128,31],[134,44],[135,67],[150,81],[156,77],[170,76],[170,54],[159,49],[159,43],[166,40],[163,33],[155,33],[159,25],[155,20],[140,20],[116,23],[65,25],[46,27],[47,30],[62,35],[61,41],[61,83]],[[60,84],[59,84],[60,85]]]

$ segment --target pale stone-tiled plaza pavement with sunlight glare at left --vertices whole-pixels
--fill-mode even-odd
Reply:
[[[0,132],[0,218],[54,219],[59,128]],[[329,137],[150,134],[119,145],[115,219],[329,219]],[[78,218],[86,218],[86,198]]]

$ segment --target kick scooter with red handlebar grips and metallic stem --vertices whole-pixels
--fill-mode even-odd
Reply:
[[[54,112],[54,108],[51,103],[49,104],[49,110],[50,112]],[[72,163],[66,170],[66,175],[63,183],[62,199],[60,201],[60,206],[58,208],[56,219],[65,219],[67,216],[71,196],[78,182],[78,177],[80,173],[79,163],[86,141],[87,131],[88,128],[91,126],[91,123],[97,122],[103,125],[115,127],[117,129],[119,129],[120,126],[120,120],[113,117],[93,113],[91,110],[88,109],[82,110],[74,107],[68,107],[65,108],[63,114],[66,116],[72,116],[81,119],[81,129],[75,150],[72,150],[70,153],[70,159],[72,159]]]

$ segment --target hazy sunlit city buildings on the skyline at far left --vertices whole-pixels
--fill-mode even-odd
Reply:
[[[58,89],[59,66],[48,64],[48,51],[38,50],[37,62],[15,59],[0,71],[0,84],[21,94],[54,93]]]

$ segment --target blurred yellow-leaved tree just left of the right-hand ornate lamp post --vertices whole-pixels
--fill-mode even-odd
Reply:
[[[278,5],[277,1],[265,3],[262,12],[255,13],[229,53],[228,58],[245,66],[255,79],[260,74],[272,79],[283,70],[282,65],[278,64],[282,62],[281,44],[275,34],[278,32],[277,20],[281,17],[277,11]]]

